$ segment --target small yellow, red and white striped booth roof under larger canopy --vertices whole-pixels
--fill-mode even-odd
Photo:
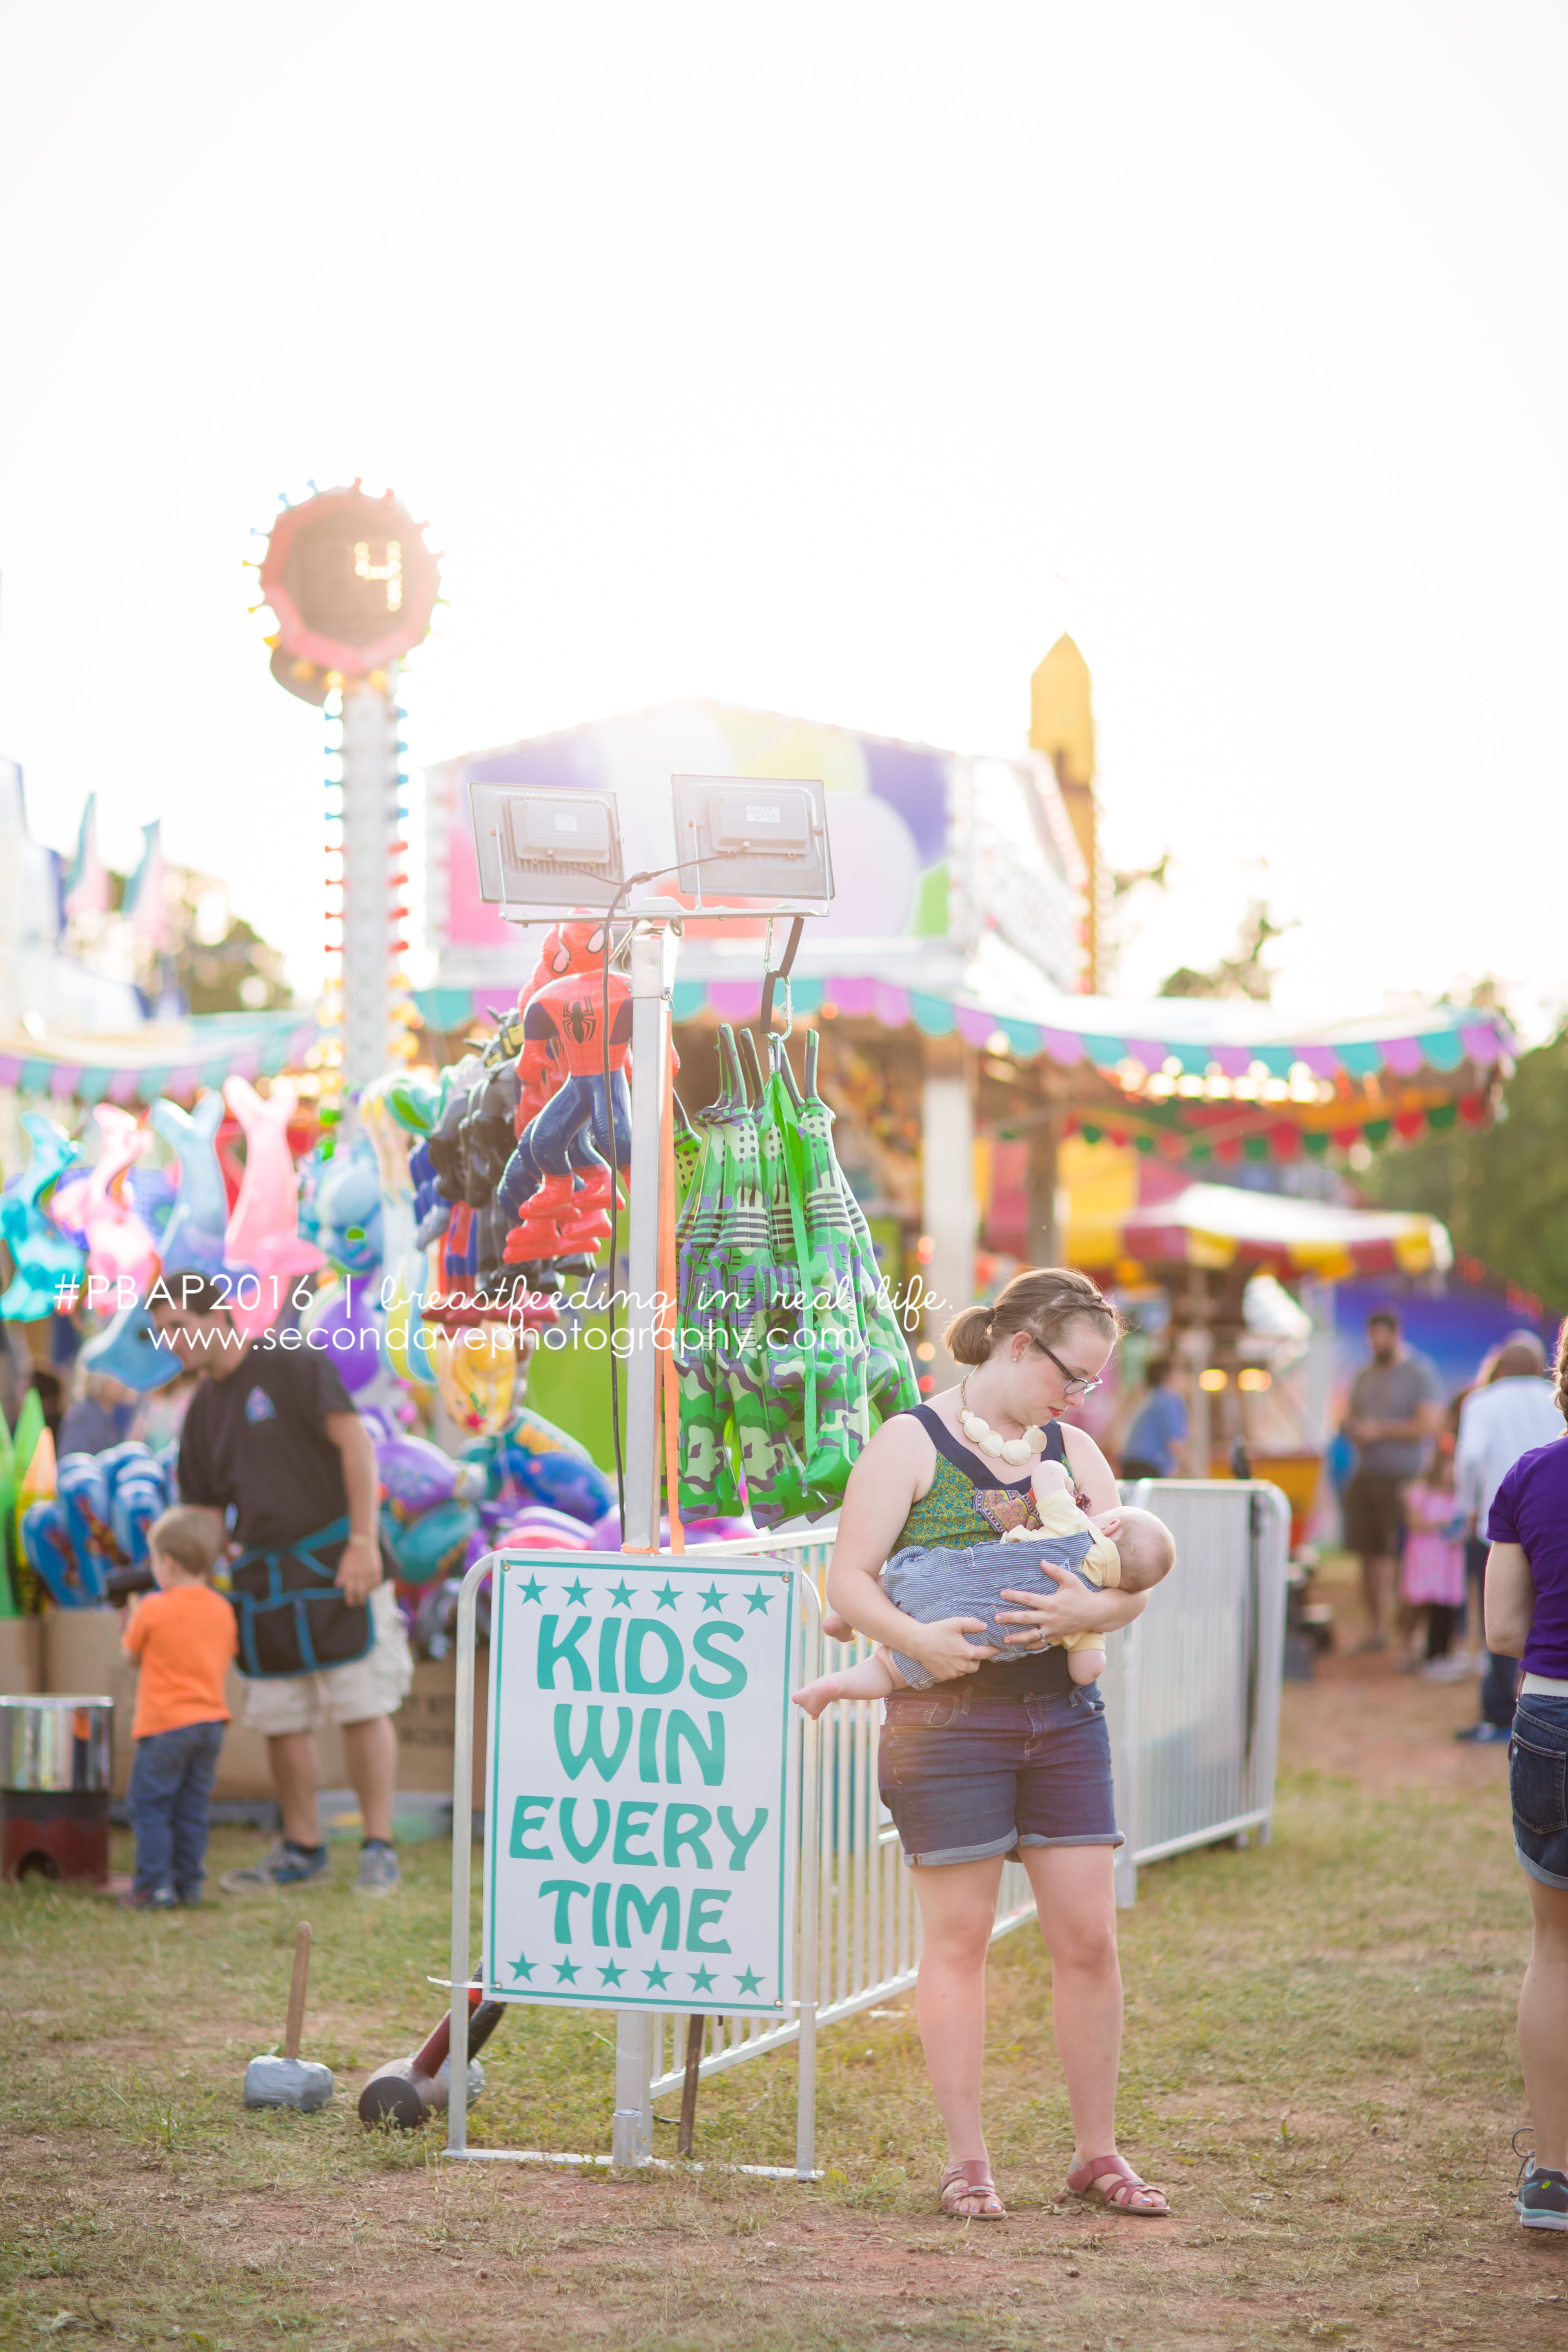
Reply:
[[[1072,1263],[1088,1268],[1135,1261],[1145,1268],[1229,1265],[1274,1275],[1427,1275],[1453,1265],[1448,1228],[1408,1211],[1335,1209],[1281,1192],[1190,1183],[1175,1200],[1145,1202],[1117,1218],[1093,1218],[1070,1232]]]

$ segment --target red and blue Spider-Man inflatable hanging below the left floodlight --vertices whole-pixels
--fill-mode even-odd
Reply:
[[[604,924],[557,924],[517,1000],[517,1150],[496,1188],[496,1207],[517,1218],[508,1265],[592,1254],[609,1232],[611,1120],[616,1167],[632,1157],[632,993],[618,971],[609,974],[609,1094],[604,1002]]]

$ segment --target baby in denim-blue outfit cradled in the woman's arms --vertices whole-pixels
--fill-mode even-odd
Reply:
[[[1011,1524],[999,1543],[980,1543],[973,1550],[926,1550],[910,1545],[893,1552],[882,1571],[886,1597],[905,1616],[924,1625],[938,1618],[983,1618],[983,1632],[964,1639],[976,1649],[994,1649],[997,1665],[1016,1665],[1034,1649],[1006,1646],[1006,1635],[1016,1625],[997,1618],[1004,1590],[1044,1592],[1058,1590],[1058,1578],[1039,1566],[1041,1557],[1063,1569],[1072,1569],[1079,1583],[1091,1590],[1147,1592],[1175,1564],[1175,1538],[1164,1519],[1150,1510],[1114,1510],[1105,1515],[1105,1526],[1095,1526],[1072,1498],[1072,1484],[1060,1463],[1041,1461],[1030,1479],[1032,1522]],[[980,1505],[985,1510],[985,1505]],[[1027,1508],[1027,1505],[1025,1505]],[[990,1517],[990,1512],[985,1512]],[[1112,1534],[1114,1531],[1114,1543]],[[961,1578],[961,1581],[959,1581]],[[842,1618],[825,1618],[823,1630],[837,1632]],[[849,1637],[844,1625],[842,1637]],[[1056,1644],[1046,1642],[1046,1649]],[[1105,1637],[1098,1632],[1074,1632],[1060,1644],[1067,1651],[1067,1675],[1074,1684],[1095,1682],[1105,1672]],[[820,1715],[835,1698],[886,1698],[891,1691],[929,1691],[933,1684],[929,1668],[919,1658],[907,1658],[898,1649],[877,1646],[875,1656],[837,1675],[818,1675],[802,1691],[795,1705],[806,1715]]]

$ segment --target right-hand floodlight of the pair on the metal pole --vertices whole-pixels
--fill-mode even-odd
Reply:
[[[827,795],[773,776],[672,776],[679,887],[703,901],[769,898],[827,913]]]

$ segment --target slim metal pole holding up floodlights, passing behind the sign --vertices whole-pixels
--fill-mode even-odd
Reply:
[[[663,1167],[665,1049],[675,988],[675,934],[637,924],[632,931],[632,1232],[625,1268],[625,1526],[623,1545],[658,1550],[658,1174]],[[616,1272],[611,1268],[611,1282]],[[616,2011],[616,2164],[646,2164],[654,2154],[654,2034],[642,2009]]]

